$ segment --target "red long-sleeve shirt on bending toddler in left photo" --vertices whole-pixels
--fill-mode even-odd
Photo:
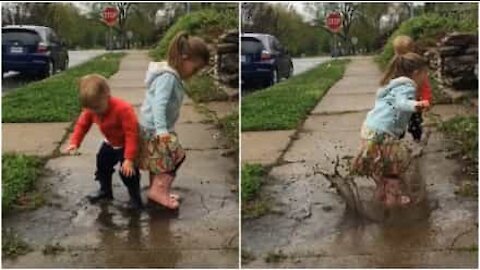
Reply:
[[[84,109],[75,124],[70,144],[80,147],[83,138],[95,123],[114,147],[125,147],[124,158],[133,160],[137,155],[138,120],[135,111],[128,102],[110,97],[108,109],[100,116]]]

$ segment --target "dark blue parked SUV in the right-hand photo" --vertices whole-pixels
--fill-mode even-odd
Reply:
[[[276,37],[245,33],[241,42],[242,86],[268,87],[292,76],[292,58]]]

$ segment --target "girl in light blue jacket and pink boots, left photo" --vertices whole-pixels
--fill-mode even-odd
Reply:
[[[167,62],[152,62],[147,71],[147,92],[140,109],[139,165],[150,173],[148,198],[170,209],[179,206],[179,196],[170,189],[185,159],[175,133],[185,94],[183,80],[205,67],[209,58],[202,39],[182,32],[170,43]]]

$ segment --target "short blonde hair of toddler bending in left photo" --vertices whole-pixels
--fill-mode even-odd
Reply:
[[[85,75],[79,80],[80,103],[82,107],[90,107],[100,98],[110,94],[107,79],[99,74]]]

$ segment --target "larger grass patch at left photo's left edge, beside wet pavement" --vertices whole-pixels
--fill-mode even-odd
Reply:
[[[27,195],[41,173],[43,162],[34,156],[2,155],[2,209],[10,210]]]

